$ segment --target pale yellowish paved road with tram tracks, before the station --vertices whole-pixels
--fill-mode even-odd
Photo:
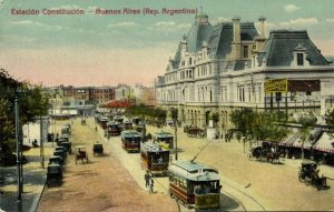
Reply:
[[[148,132],[156,131],[148,127]],[[164,130],[173,129],[165,128]],[[102,131],[100,130],[100,133]],[[122,161],[129,172],[144,188],[144,170],[140,169],[139,154],[125,154],[119,138],[105,141]],[[190,160],[207,144],[206,139],[189,139],[178,129],[179,160]],[[245,148],[247,152],[248,147]],[[317,191],[298,182],[297,172],[301,160],[284,160],[279,164],[253,161],[237,141],[212,141],[197,157],[198,162],[216,168],[222,178],[222,211],[267,211],[267,210],[332,210],[334,209],[334,182],[327,180],[328,189]],[[321,172],[334,179],[334,169],[320,166]],[[168,194],[167,178],[159,178],[157,191]],[[156,183],[157,184],[157,183]],[[332,188],[332,189],[331,189]],[[145,189],[145,188],[144,188]],[[316,198],[315,198],[316,196]]]

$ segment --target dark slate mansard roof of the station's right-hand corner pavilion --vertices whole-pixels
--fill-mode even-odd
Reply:
[[[303,47],[303,48],[301,48]],[[291,65],[294,51],[304,50],[311,65],[328,65],[321,51],[308,38],[306,30],[274,30],[265,43],[264,52],[268,67]]]

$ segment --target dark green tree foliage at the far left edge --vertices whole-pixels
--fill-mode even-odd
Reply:
[[[37,115],[48,114],[49,101],[41,85],[20,82],[0,69],[0,148],[10,152],[14,147],[14,104],[18,100],[20,125],[31,122]]]

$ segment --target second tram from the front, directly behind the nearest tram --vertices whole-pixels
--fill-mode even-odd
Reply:
[[[147,141],[140,145],[141,166],[154,175],[168,173],[169,150],[157,142]]]

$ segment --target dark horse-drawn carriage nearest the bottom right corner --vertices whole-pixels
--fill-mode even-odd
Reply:
[[[317,190],[326,188],[326,176],[318,174],[320,170],[314,161],[304,160],[298,172],[299,182],[304,182],[306,185],[314,185]]]

